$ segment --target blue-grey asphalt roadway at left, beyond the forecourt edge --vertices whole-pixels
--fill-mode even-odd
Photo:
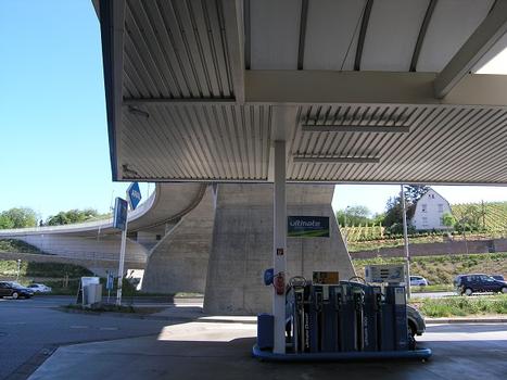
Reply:
[[[0,299],[0,379],[13,372],[23,375],[27,369],[23,364],[30,358],[37,362],[59,345],[157,334],[167,326],[167,321],[97,317],[54,309],[73,300],[65,296]]]

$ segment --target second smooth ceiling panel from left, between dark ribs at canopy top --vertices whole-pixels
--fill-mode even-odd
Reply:
[[[353,69],[365,2],[309,1],[304,69]]]

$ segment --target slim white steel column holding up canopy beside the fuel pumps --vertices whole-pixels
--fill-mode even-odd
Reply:
[[[274,246],[272,266],[275,278],[286,276],[287,254],[287,201],[286,201],[286,141],[275,141],[275,186],[274,186]],[[286,279],[287,281],[287,279]],[[275,316],[274,352],[286,353],[286,292],[272,290],[272,315]]]

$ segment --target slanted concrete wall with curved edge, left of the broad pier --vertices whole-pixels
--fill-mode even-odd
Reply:
[[[213,198],[208,187],[199,205],[152,249],[142,291],[204,293],[215,216]]]

